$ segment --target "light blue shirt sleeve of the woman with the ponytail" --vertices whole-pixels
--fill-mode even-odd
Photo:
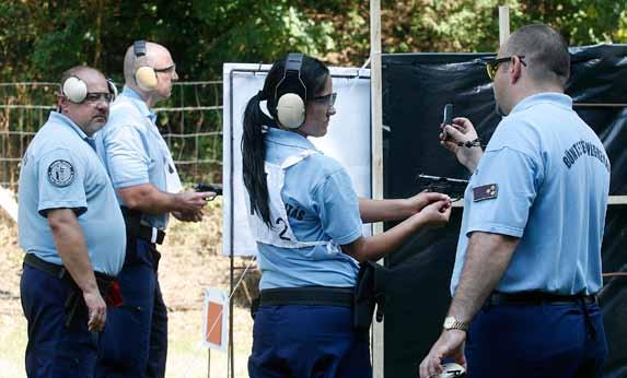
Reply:
[[[347,245],[361,236],[359,200],[344,169],[326,176],[313,191],[322,227],[336,244]]]

